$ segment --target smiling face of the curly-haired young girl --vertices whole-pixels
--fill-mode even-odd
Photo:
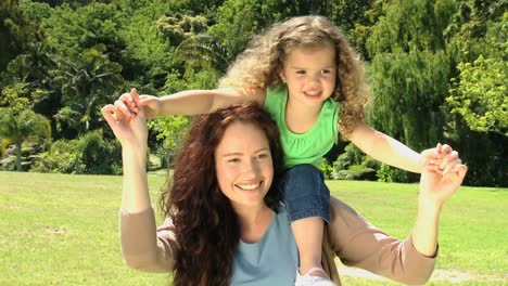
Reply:
[[[280,77],[291,104],[321,106],[335,89],[335,52],[331,44],[295,48],[287,55]]]

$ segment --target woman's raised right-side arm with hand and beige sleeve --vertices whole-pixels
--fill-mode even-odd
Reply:
[[[457,191],[467,171],[453,152],[445,157],[443,166],[446,173],[434,171],[434,167],[423,170],[417,221],[404,240],[388,235],[331,197],[329,240],[333,252],[348,266],[401,283],[426,283],[434,270],[442,204]]]

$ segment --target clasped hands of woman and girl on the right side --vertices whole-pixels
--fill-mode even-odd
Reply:
[[[444,153],[443,147],[437,145],[439,154],[430,156],[420,178],[420,198],[439,205],[458,190],[468,171],[457,152],[447,146]]]

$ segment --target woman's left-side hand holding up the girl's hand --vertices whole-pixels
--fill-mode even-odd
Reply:
[[[109,104],[102,107],[101,113],[122,146],[130,144],[147,148],[148,127],[142,112],[132,117],[125,110],[125,105],[116,101],[115,105]]]

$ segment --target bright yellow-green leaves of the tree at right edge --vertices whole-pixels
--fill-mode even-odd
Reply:
[[[495,13],[496,10],[493,10]],[[471,12],[472,13],[472,12]],[[473,14],[480,17],[479,13]],[[481,17],[480,17],[481,18]],[[508,12],[499,22],[465,25],[454,37],[450,49],[457,54],[458,76],[452,78],[453,88],[446,99],[452,113],[459,114],[469,128],[480,132],[501,132],[508,128]],[[477,20],[478,21],[478,20]],[[484,31],[479,31],[483,27]],[[473,35],[484,35],[475,38]],[[473,46],[471,49],[469,46]],[[479,54],[477,58],[475,56]],[[469,61],[473,58],[473,61]]]

